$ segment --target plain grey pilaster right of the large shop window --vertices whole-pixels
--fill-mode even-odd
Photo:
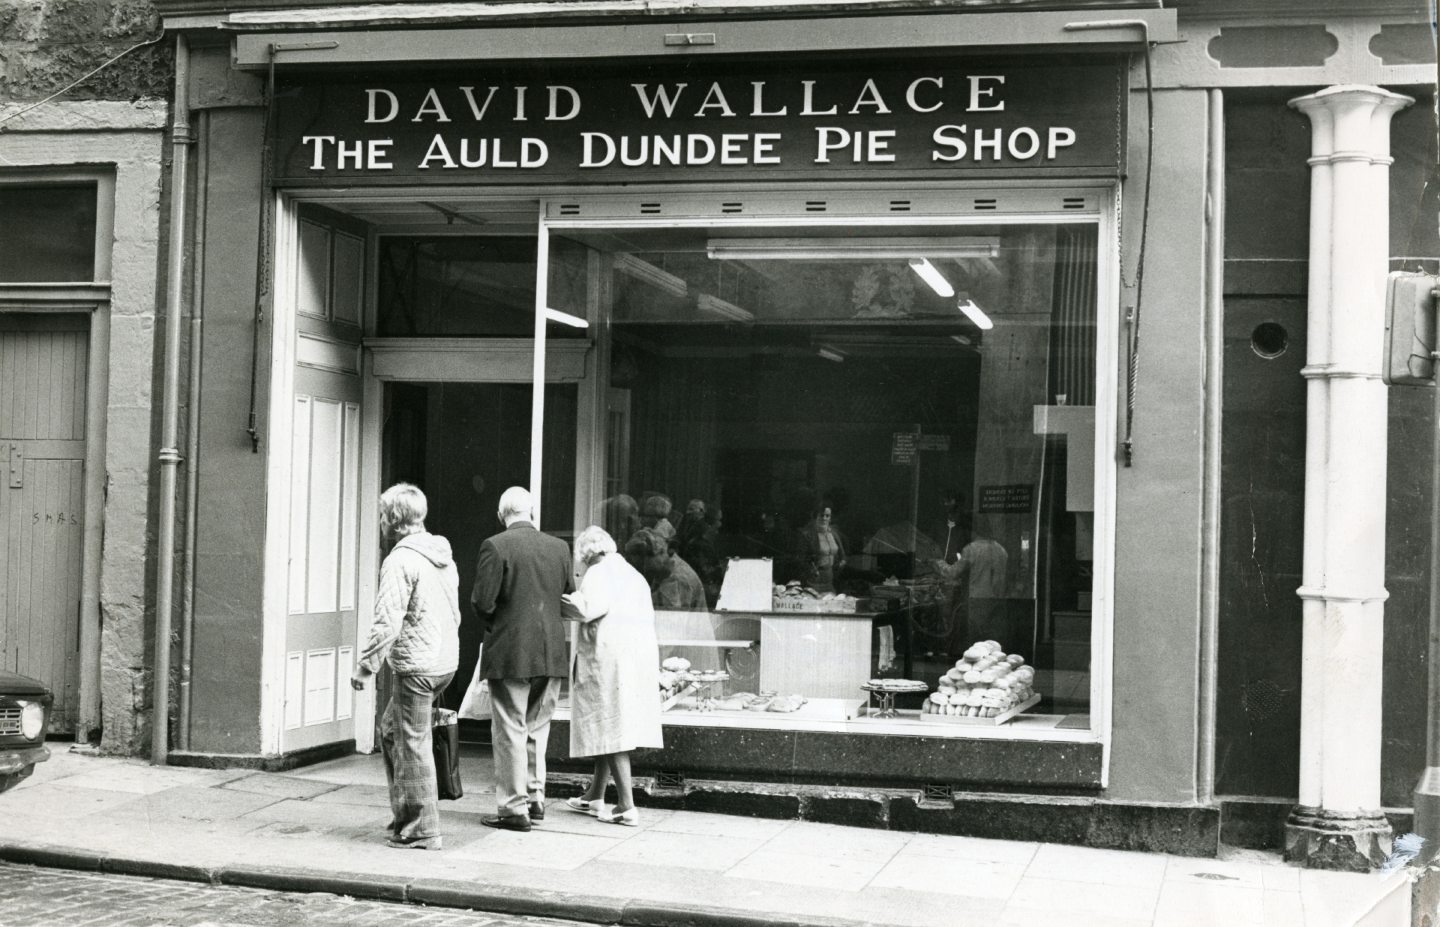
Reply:
[[[1142,223],[1143,94],[1132,95],[1128,135],[1122,315],[1135,298],[1128,284],[1133,284]],[[1117,800],[1188,802],[1195,796],[1205,145],[1205,94],[1156,92],[1135,464],[1128,468],[1120,461],[1116,476],[1107,797]],[[1123,347],[1123,320],[1119,324]],[[1123,433],[1123,357],[1116,367]]]

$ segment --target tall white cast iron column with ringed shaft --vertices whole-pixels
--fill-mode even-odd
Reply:
[[[1286,858],[1365,871],[1390,851],[1380,810],[1385,610],[1390,119],[1414,102],[1331,86],[1310,118],[1310,266],[1299,805]]]

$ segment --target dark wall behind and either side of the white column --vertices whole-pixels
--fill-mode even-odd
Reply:
[[[1215,787],[1292,799],[1299,776],[1305,521],[1309,121],[1305,92],[1225,96],[1225,325]],[[1390,253],[1440,256],[1431,104],[1394,119]],[[1264,357],[1257,327],[1283,328]],[[1274,334],[1274,330],[1270,333]],[[1261,337],[1261,343],[1264,338]],[[1261,348],[1264,344],[1260,345]],[[1382,800],[1410,805],[1424,766],[1431,393],[1390,392]]]

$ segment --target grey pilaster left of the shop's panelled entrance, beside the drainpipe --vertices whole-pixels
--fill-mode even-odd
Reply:
[[[206,65],[210,65],[206,68]],[[219,73],[216,73],[219,69]],[[197,55],[197,101],[213,104],[199,157],[207,184],[202,259],[204,331],[200,390],[199,528],[190,747],[261,750],[264,641],[265,426],[269,338],[259,340],[259,452],[246,433],[255,333],[262,109],[239,102],[223,62]],[[209,86],[207,79],[216,83]],[[253,94],[258,88],[249,88]],[[243,98],[242,98],[243,99]]]

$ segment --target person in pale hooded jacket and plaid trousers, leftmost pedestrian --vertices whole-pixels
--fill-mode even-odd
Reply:
[[[390,662],[390,702],[380,717],[390,786],[390,846],[441,848],[431,711],[459,664],[459,573],[451,546],[425,530],[425,494],[399,482],[380,495],[380,530],[395,546],[380,566],[374,620],[350,685]]]

